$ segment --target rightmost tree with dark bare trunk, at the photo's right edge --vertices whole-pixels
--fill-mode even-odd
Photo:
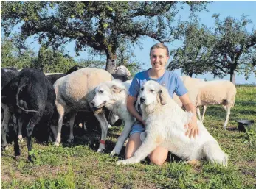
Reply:
[[[224,76],[230,74],[230,81],[235,83],[236,72],[244,73],[246,78],[252,72],[256,73],[255,60],[256,30],[248,32],[246,26],[251,23],[246,16],[240,20],[227,17],[221,21],[219,15],[215,18],[214,45],[210,55],[210,64],[215,69],[212,74]],[[250,59],[251,58],[251,59]]]

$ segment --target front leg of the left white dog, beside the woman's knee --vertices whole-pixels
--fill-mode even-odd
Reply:
[[[131,126],[133,125],[132,123],[133,123],[132,121],[125,121],[125,128],[123,129],[122,134],[119,136],[117,140],[117,144],[116,146],[114,146],[113,151],[111,151],[111,154],[110,154],[111,157],[113,157],[115,154],[120,154],[122,146],[129,135]]]

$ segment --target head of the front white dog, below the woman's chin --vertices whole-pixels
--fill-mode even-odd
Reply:
[[[157,103],[165,105],[167,100],[166,98],[166,89],[159,85],[158,82],[152,80],[145,82],[139,90],[139,103],[146,106]]]

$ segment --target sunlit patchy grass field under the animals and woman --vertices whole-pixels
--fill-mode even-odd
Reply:
[[[21,157],[15,160],[13,145],[1,152],[1,188],[256,188],[256,132],[238,132],[236,120],[256,122],[256,88],[238,86],[235,107],[228,128],[223,129],[225,112],[221,106],[207,107],[204,126],[229,154],[228,168],[202,160],[188,165],[183,160],[168,160],[162,167],[148,160],[136,165],[116,166],[124,158],[111,158],[121,130],[108,131],[106,150],[97,154],[100,132],[83,133],[76,129],[70,146],[46,146],[33,140],[37,159],[27,162],[26,143],[21,144]],[[255,125],[254,125],[255,126]]]

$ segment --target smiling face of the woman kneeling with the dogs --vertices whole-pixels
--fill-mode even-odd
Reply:
[[[151,66],[154,71],[165,69],[165,65],[169,56],[166,54],[166,49],[155,48],[151,51]]]

